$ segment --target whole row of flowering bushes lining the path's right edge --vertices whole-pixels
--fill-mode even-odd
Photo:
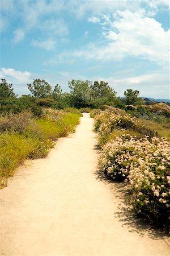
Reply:
[[[96,115],[95,130],[102,146],[101,170],[110,179],[125,181],[131,208],[137,214],[156,226],[169,228],[170,142],[167,138],[154,137],[153,127],[114,108]]]

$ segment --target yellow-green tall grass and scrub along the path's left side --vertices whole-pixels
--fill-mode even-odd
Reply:
[[[78,113],[61,113],[56,110],[48,117],[35,119],[31,113],[6,115],[0,118],[0,187],[7,185],[8,177],[25,159],[45,157],[55,141],[75,131]]]

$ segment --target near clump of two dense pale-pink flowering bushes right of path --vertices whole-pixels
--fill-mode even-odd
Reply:
[[[130,135],[103,146],[100,168],[113,180],[125,181],[135,212],[156,226],[170,225],[170,142]]]

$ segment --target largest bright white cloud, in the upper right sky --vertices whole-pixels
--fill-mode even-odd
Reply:
[[[101,18],[100,18],[101,20]],[[169,31],[154,18],[145,16],[143,10],[132,13],[129,10],[117,11],[114,19],[103,16],[101,32],[105,42],[103,45],[91,44],[86,49],[74,51],[71,57],[84,57],[101,61],[122,60],[127,56],[154,61],[156,64],[168,63]],[[106,28],[106,29],[105,29]]]

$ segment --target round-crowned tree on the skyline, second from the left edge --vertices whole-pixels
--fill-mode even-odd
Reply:
[[[45,80],[33,79],[32,84],[28,84],[28,89],[37,98],[45,98],[52,93],[52,86]]]

